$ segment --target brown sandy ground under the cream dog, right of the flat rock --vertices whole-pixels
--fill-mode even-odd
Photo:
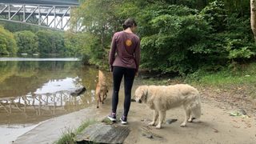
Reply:
[[[123,91],[120,94],[121,98],[118,104],[119,115],[122,114],[123,110]],[[229,110],[226,108],[229,108]],[[102,114],[109,114],[110,98],[107,99],[106,104],[99,110]],[[178,121],[164,124],[161,130],[157,130],[154,126],[147,126],[147,123],[150,122],[153,116],[153,111],[145,104],[131,102],[128,117],[128,126],[130,126],[131,132],[124,143],[255,143],[256,119],[254,115],[251,115],[250,118],[230,116],[229,113],[235,110],[237,109],[232,109],[224,103],[215,102],[210,98],[202,98],[202,117],[200,121],[188,123],[184,128],[180,127],[185,112],[182,108],[177,108],[167,111],[166,119],[176,118]],[[120,125],[120,122],[115,125]]]

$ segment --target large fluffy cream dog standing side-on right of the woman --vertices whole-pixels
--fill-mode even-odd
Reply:
[[[154,126],[159,116],[156,126],[160,129],[162,122],[166,118],[166,110],[183,106],[186,111],[184,122],[181,126],[186,126],[186,122],[192,122],[194,118],[201,116],[201,100],[198,90],[186,84],[174,86],[139,86],[135,90],[135,101],[145,102],[150,109],[154,110],[153,121],[149,123]]]

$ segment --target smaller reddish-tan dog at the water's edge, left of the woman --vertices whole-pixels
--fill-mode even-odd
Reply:
[[[95,95],[97,98],[97,108],[99,105],[99,102],[104,103],[104,100],[106,99],[106,94],[108,92],[108,86],[106,84],[106,76],[102,73],[101,70],[98,70],[98,83],[95,90]]]

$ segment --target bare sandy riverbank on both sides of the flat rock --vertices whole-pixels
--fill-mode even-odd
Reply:
[[[137,86],[134,86],[134,90]],[[111,98],[106,99],[104,105],[96,109],[96,105],[87,110],[80,110],[74,114],[68,114],[59,118],[54,118],[31,130],[18,138],[15,143],[52,143],[57,140],[62,131],[67,128],[78,127],[82,120],[88,118],[101,119],[110,113]],[[122,114],[123,88],[120,91],[118,103],[118,114]],[[250,144],[256,142],[256,119],[254,115],[250,118],[232,117],[226,110],[226,105],[215,102],[212,99],[202,98],[202,118],[199,122],[188,123],[182,128],[179,125],[184,118],[184,111],[181,108],[169,110],[166,119],[176,118],[177,122],[170,125],[164,124],[161,130],[156,130],[153,126],[147,126],[153,115],[145,104],[132,102],[128,122],[130,134],[124,143],[238,143]],[[114,125],[120,125],[117,122]]]

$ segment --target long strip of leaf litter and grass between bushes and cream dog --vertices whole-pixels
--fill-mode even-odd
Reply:
[[[256,62],[246,65],[230,66],[218,72],[198,70],[186,77],[176,78],[154,78],[142,79],[142,85],[173,85],[177,83],[188,83],[192,86],[207,86],[217,89],[238,90],[250,98],[256,98]]]

